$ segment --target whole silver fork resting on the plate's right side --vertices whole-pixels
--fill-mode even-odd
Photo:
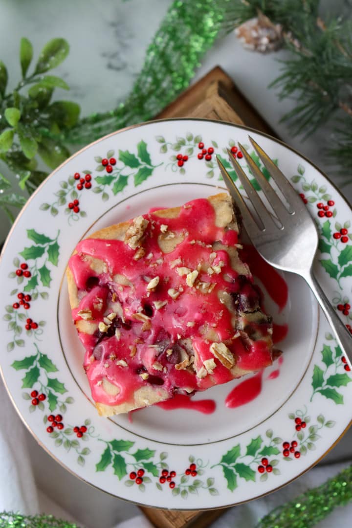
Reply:
[[[253,215],[248,209],[242,195],[233,183],[220,159],[217,158],[218,166],[224,182],[233,197],[235,204],[241,211],[243,223],[253,246],[261,256],[274,268],[291,271],[303,277],[313,294],[316,296],[329,324],[334,329],[336,339],[341,350],[352,362],[352,336],[330,305],[324,291],[318,284],[312,272],[313,261],[318,248],[318,232],[316,225],[287,178],[280,169],[272,162],[264,150],[250,137],[250,141],[267,168],[273,181],[287,201],[284,204],[273,187],[265,179],[258,166],[254,163],[246,149],[239,143],[239,147],[248,163],[253,176],[259,183],[265,197],[267,198],[276,218],[270,214],[253,185],[244,173],[240,164],[236,161],[231,151],[227,149],[230,161],[235,169],[244,190],[256,212]],[[258,215],[258,216],[257,216]]]

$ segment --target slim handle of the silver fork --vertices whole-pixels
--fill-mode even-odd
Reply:
[[[351,366],[352,335],[349,333],[348,329],[335,312],[335,309],[331,306],[329,299],[325,295],[315,276],[312,274],[312,271],[310,271],[310,274],[306,276],[305,279],[308,282],[308,285],[310,286],[310,289],[312,290],[313,294],[316,296],[323,312],[326,315],[326,318],[328,319],[331,328],[334,330],[336,340],[343,353],[348,357]]]

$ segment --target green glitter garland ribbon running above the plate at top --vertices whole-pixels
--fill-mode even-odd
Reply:
[[[61,139],[88,144],[153,118],[188,87],[203,55],[226,32],[231,4],[233,0],[175,0],[146,51],[144,66],[126,101],[115,110],[81,119]]]

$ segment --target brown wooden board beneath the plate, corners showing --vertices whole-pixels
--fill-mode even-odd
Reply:
[[[246,125],[277,137],[268,123],[235,86],[233,80],[220,67],[183,92],[155,119],[169,117],[199,117]],[[206,528],[226,508],[208,511],[173,511],[140,507],[148,520],[157,528]]]

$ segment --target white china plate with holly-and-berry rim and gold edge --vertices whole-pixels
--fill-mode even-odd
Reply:
[[[254,279],[283,350],[271,367],[129,417],[100,418],[92,404],[64,279],[75,245],[89,232],[150,208],[216,194],[223,187],[216,156],[236,180],[227,148],[259,190],[237,143],[248,146],[248,133],[245,127],[180,119],[102,138],[54,171],[6,242],[0,277],[7,390],[47,451],[118,497],[175,510],[247,501],[301,475],[350,425],[350,367],[315,299],[300,278],[261,274],[255,261]],[[352,333],[348,204],[307,159],[265,135],[251,135],[317,223],[316,275]]]

